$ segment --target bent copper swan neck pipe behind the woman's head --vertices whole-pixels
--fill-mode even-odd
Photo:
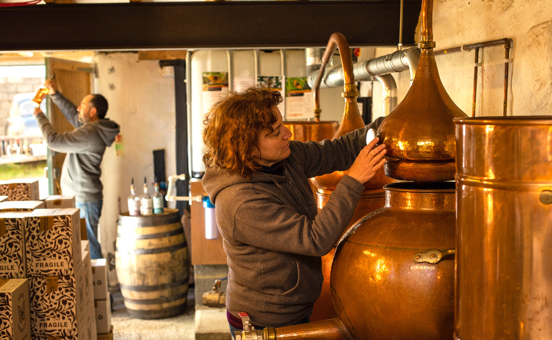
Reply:
[[[336,32],[332,34],[330,36],[330,40],[328,40],[328,45],[326,46],[326,51],[324,51],[324,55],[322,56],[322,64],[320,66],[318,76],[316,77],[316,82],[312,87],[314,113],[317,122],[320,121],[320,112],[322,112],[320,109],[320,83],[322,82],[326,65],[331,60],[336,47],[339,50],[339,57],[341,57],[341,64],[343,67],[343,77],[345,78],[344,91],[345,93],[356,91],[356,87],[354,85],[353,60],[351,58],[351,51],[349,50],[347,38],[343,34]],[[352,86],[354,86],[354,89],[351,89]],[[358,93],[354,96],[357,97]]]

